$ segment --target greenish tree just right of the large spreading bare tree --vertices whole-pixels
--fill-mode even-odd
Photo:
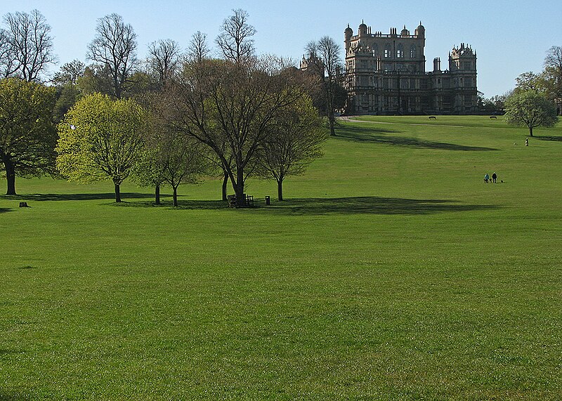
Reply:
[[[283,200],[283,180],[304,173],[314,159],[322,156],[327,140],[323,121],[311,98],[298,102],[275,117],[275,124],[261,147],[260,169],[277,182],[277,198]]]

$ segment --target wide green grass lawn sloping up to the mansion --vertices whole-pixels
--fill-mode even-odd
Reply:
[[[16,180],[0,400],[562,399],[562,124],[361,118],[255,209]]]

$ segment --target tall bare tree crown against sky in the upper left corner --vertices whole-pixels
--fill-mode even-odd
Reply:
[[[4,15],[0,34],[0,65],[4,77],[39,81],[39,75],[55,62],[51,27],[37,10]]]

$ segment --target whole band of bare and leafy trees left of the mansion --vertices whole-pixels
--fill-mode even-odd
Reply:
[[[119,186],[130,176],[154,186],[157,202],[160,186],[170,185],[177,204],[178,185],[220,174],[223,199],[230,181],[238,206],[249,176],[275,179],[282,200],[283,180],[322,153],[327,133],[311,95],[332,89],[323,71],[303,74],[273,56],[256,57],[247,18],[236,10],[223,22],[216,39],[221,58],[210,57],[197,32],[185,53],[175,41],[157,41],[141,63],[131,25],[112,14],[98,20],[88,53],[93,63],[63,65],[54,88],[34,82],[44,67],[28,80],[21,67],[4,70],[0,119],[11,133],[0,133],[0,157],[7,193],[15,194],[16,174],[51,173],[79,182],[111,179],[120,202]],[[41,26],[48,34],[50,27]],[[38,98],[42,103],[27,104]],[[18,125],[18,112],[27,113],[29,126]],[[51,117],[58,122],[56,148]]]

